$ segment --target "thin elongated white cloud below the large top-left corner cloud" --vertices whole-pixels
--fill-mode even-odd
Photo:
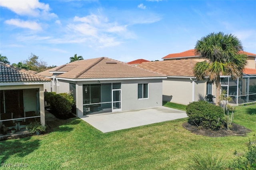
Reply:
[[[6,24],[14,25],[19,28],[28,28],[30,30],[40,31],[42,30],[41,26],[33,21],[22,21],[20,19],[10,19],[5,21]]]

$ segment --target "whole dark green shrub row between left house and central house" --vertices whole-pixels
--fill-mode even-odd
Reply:
[[[50,103],[50,107],[55,109],[58,115],[67,116],[71,113],[72,106],[75,104],[72,93],[48,92],[45,95],[46,101]]]

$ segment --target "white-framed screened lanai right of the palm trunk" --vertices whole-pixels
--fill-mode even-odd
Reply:
[[[232,97],[230,103],[242,104],[256,101],[256,76],[244,74],[242,79],[233,80],[231,77],[221,77],[221,90]]]

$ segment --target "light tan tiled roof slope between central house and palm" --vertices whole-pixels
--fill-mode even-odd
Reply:
[[[138,67],[166,74],[167,76],[194,77],[193,67],[198,61],[192,59],[152,61]]]

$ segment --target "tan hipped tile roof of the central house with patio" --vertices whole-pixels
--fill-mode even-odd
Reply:
[[[61,73],[56,77],[66,79],[166,77],[163,74],[142,69],[107,57],[78,60],[50,69],[48,70],[48,73],[47,71],[44,71],[38,74],[49,76],[49,72],[51,74]]]

